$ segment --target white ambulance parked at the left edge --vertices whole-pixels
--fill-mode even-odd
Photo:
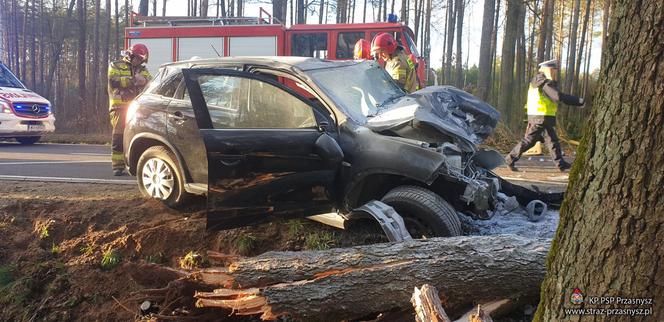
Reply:
[[[55,130],[51,102],[27,89],[0,62],[0,139],[33,144]]]

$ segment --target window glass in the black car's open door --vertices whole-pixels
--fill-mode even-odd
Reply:
[[[220,75],[198,81],[215,129],[316,127],[311,106],[267,82]]]

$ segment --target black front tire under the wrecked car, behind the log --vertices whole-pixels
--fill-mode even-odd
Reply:
[[[461,221],[456,210],[431,190],[400,186],[382,199],[403,217],[413,238],[460,236]]]

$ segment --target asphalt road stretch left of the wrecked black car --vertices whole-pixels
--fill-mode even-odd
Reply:
[[[84,144],[20,145],[0,142],[0,178],[23,180],[61,178],[133,183],[135,178],[115,177],[111,170],[111,147]],[[27,179],[26,179],[27,178]]]

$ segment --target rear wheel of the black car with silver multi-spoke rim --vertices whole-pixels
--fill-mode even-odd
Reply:
[[[184,190],[177,158],[164,146],[143,152],[136,166],[136,180],[143,196],[158,199],[170,208],[184,206],[191,198]]]

